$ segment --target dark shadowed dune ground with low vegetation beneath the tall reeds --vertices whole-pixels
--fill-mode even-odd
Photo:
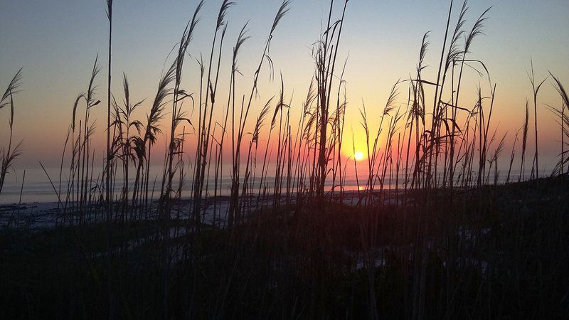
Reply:
[[[569,314],[567,176],[458,191],[452,207],[447,191],[428,196],[429,208],[304,204],[200,233],[180,220],[2,230],[0,317],[107,318],[107,270],[117,319]]]

